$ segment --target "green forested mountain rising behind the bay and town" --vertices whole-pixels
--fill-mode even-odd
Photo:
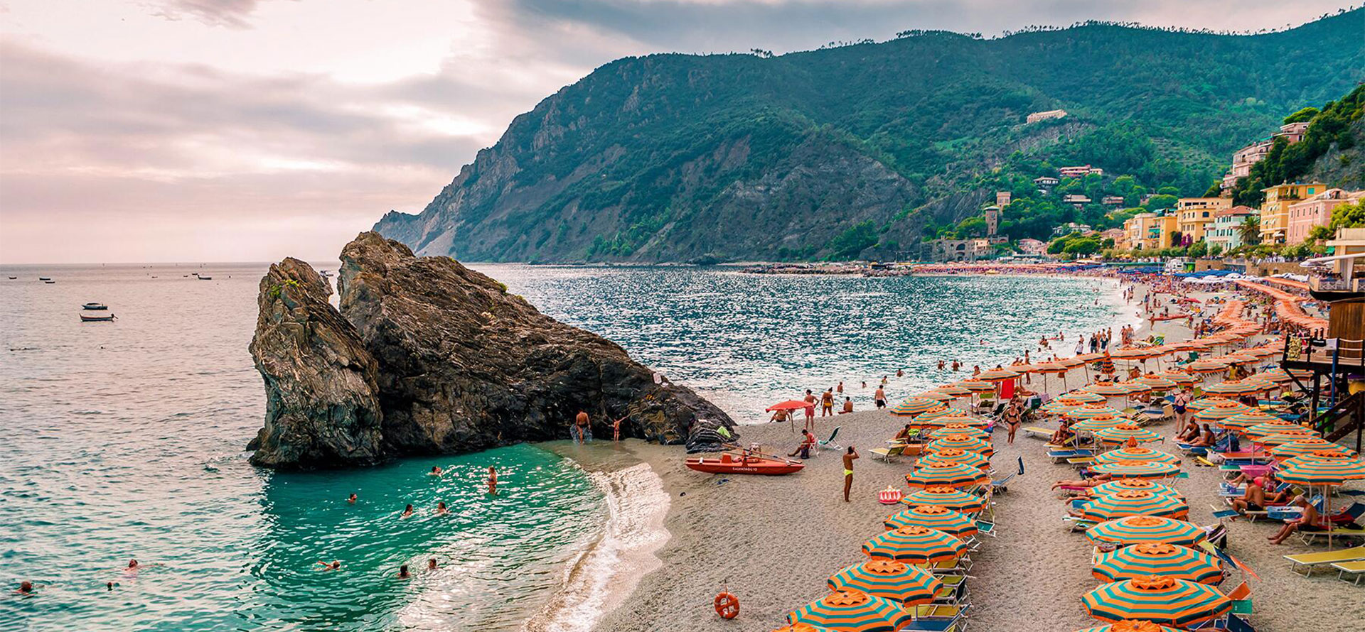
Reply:
[[[1355,10],[1259,35],[1089,23],[629,57],[516,117],[420,215],[375,229],[465,260],[894,256],[1062,165],[1106,170],[1082,189],[1130,176],[1200,195],[1233,150],[1365,79],[1362,33]],[[1067,116],[1025,123],[1052,109]]]

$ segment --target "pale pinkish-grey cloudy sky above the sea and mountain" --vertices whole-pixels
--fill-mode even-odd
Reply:
[[[1283,29],[1295,0],[0,0],[0,262],[333,259],[618,57],[1085,19]]]

